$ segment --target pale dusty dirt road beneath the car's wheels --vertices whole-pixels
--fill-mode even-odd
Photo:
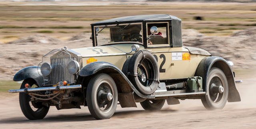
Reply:
[[[241,102],[227,103],[224,109],[207,111],[200,100],[183,100],[164,105],[161,111],[121,108],[110,119],[94,119],[87,107],[57,110],[50,107],[42,120],[28,120],[22,114],[18,94],[0,95],[0,127],[10,128],[256,128],[255,70],[239,71],[236,79]],[[12,96],[11,96],[12,95]]]

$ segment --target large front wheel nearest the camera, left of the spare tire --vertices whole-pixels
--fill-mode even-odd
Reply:
[[[108,119],[116,111],[118,91],[114,79],[100,73],[90,80],[86,91],[86,102],[92,116],[96,119]]]

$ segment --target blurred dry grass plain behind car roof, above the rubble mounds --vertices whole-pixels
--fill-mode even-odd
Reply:
[[[90,32],[90,24],[93,22],[142,14],[171,14],[182,19],[183,28],[194,28],[207,35],[230,35],[233,30],[256,26],[255,6],[256,4],[238,3],[100,6],[0,4],[0,35],[23,37],[40,31],[60,38],[70,37],[79,32]],[[194,16],[202,16],[204,20],[193,20]],[[236,29],[228,26],[235,26]]]

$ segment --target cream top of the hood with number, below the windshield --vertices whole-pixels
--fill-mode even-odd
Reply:
[[[132,51],[132,45],[133,44],[111,44],[106,46],[72,49],[72,51],[81,54],[82,57],[125,55]],[[139,46],[140,50],[144,50],[144,46]]]

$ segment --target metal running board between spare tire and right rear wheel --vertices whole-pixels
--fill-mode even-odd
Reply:
[[[206,92],[190,92],[186,93],[186,89],[181,90],[172,90],[172,91],[163,91],[163,92],[155,92],[153,95],[155,97],[183,97],[183,96],[195,96],[195,95],[205,95]]]

